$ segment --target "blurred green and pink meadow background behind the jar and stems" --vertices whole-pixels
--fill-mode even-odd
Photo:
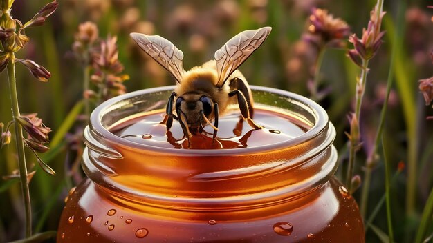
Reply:
[[[12,16],[26,21],[48,1],[15,0]],[[351,26],[358,36],[367,26],[369,12],[376,1],[346,0],[242,0],[242,1],[134,1],[134,0],[60,0],[59,8],[42,28],[26,30],[31,38],[17,57],[33,59],[46,67],[52,77],[48,83],[38,82],[28,70],[17,66],[17,85],[22,113],[38,113],[53,129],[50,137],[60,133],[55,146],[44,154],[44,159],[57,172],[50,176],[35,166],[37,173],[30,183],[33,206],[33,229],[36,232],[56,230],[64,198],[70,188],[82,179],[82,117],[67,117],[83,99],[83,68],[75,59],[72,44],[80,23],[93,21],[101,39],[118,37],[119,60],[130,76],[125,81],[128,91],[154,86],[172,85],[174,79],[138,49],[130,32],[161,35],[172,41],[185,54],[185,69],[212,59],[215,50],[238,32],[272,26],[270,37],[263,46],[239,68],[250,84],[281,88],[309,96],[307,82],[313,79],[317,50],[302,39],[308,29],[308,17],[313,7],[329,10]],[[358,153],[356,175],[363,179],[362,166],[371,146],[380,109],[385,97],[386,81],[391,63],[391,46],[397,26],[398,8],[403,8],[403,45],[394,60],[394,87],[389,98],[389,112],[384,136],[387,140],[387,159],[391,164],[391,212],[397,242],[412,242],[421,213],[433,184],[433,121],[425,117],[433,114],[418,90],[418,79],[433,75],[430,50],[433,48],[432,13],[430,1],[385,0],[383,46],[370,62],[367,89],[361,113],[363,149]],[[347,43],[352,48],[351,43]],[[319,103],[326,108],[338,134],[335,146],[340,152],[337,176],[344,178],[347,162],[347,137],[353,110],[356,77],[360,69],[346,57],[346,49],[327,49],[320,70],[320,89],[329,94]],[[84,113],[84,112],[82,112]],[[0,122],[11,119],[8,77],[0,74]],[[63,126],[65,122],[71,125]],[[67,133],[66,133],[67,132]],[[52,144],[53,145],[53,144]],[[28,165],[37,164],[28,156]],[[401,173],[398,162],[411,164]],[[400,170],[401,170],[400,163]],[[17,169],[15,144],[0,150],[0,175],[10,175]],[[414,172],[414,186],[408,186],[409,170]],[[374,211],[385,192],[383,159],[371,174],[371,188],[366,217]],[[361,185],[362,186],[362,185]],[[410,192],[410,193],[409,193]],[[408,196],[409,195],[409,196]],[[358,200],[360,189],[354,193]],[[413,197],[414,205],[407,204]],[[410,201],[410,200],[409,200]],[[359,202],[359,201],[358,201]],[[0,242],[24,237],[24,213],[21,191],[17,180],[0,181]],[[382,233],[387,232],[385,206],[378,208],[372,224]],[[430,218],[432,215],[430,215]],[[430,234],[432,225],[430,225]],[[377,231],[368,229],[367,242],[380,242]]]

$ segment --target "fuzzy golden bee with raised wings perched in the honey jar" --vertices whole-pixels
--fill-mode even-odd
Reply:
[[[203,124],[209,124],[214,129],[214,141],[219,116],[234,104],[239,106],[240,122],[246,120],[253,129],[260,129],[252,120],[254,103],[250,87],[237,68],[261,46],[271,29],[240,32],[215,52],[214,60],[188,71],[183,69],[183,52],[172,42],[159,35],[131,33],[138,46],[176,79],[177,86],[167,101],[166,114],[160,124],[165,124],[168,131],[173,119],[178,120],[188,141],[193,134],[208,133]]]

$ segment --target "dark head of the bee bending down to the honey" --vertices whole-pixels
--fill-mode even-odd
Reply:
[[[199,131],[206,124],[206,120],[212,119],[213,107],[212,99],[203,94],[187,93],[176,99],[177,116],[180,121],[186,120],[185,126],[191,131]]]

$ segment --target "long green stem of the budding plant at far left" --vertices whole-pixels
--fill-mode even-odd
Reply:
[[[15,125],[15,143],[17,145],[18,153],[18,168],[19,168],[19,179],[21,181],[21,192],[24,198],[24,209],[26,215],[26,237],[32,235],[32,211],[30,204],[30,191],[28,189],[27,181],[27,166],[26,166],[26,155],[24,153],[24,140],[23,130],[21,124],[16,121],[16,117],[19,114],[18,106],[18,95],[17,95],[17,83],[15,80],[15,54],[12,53],[8,64],[8,79],[9,79],[9,90],[10,90],[10,101],[12,103],[12,117]]]

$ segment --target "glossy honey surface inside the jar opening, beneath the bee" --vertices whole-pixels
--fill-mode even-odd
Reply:
[[[251,148],[287,141],[305,133],[310,126],[294,118],[269,110],[255,110],[254,121],[262,129],[253,129],[240,119],[239,110],[220,117],[219,130],[215,141],[212,141],[214,130],[205,126],[205,132],[194,134],[189,140],[183,134],[178,121],[174,120],[172,128],[160,122],[165,112],[162,110],[127,118],[126,122],[114,124],[111,132],[119,137],[139,144],[178,149],[229,149]]]

